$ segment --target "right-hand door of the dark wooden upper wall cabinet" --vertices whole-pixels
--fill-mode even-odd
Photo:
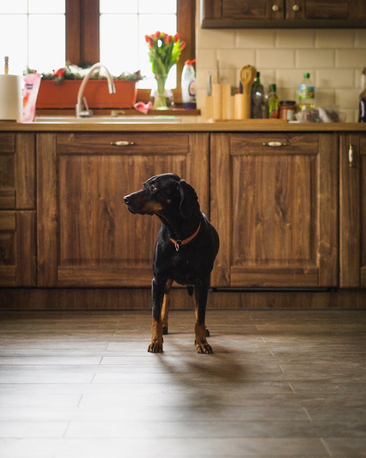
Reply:
[[[334,21],[365,18],[364,0],[286,0],[286,19],[290,20]]]

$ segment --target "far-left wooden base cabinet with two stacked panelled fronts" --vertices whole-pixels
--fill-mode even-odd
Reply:
[[[0,286],[36,286],[35,136],[0,133]]]

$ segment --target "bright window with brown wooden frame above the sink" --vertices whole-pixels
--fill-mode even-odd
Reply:
[[[140,69],[151,75],[144,35],[179,32],[187,42],[170,86],[195,54],[195,0],[12,0],[0,6],[0,56],[9,72],[28,65],[48,72],[72,63],[102,61],[112,74]],[[142,81],[140,87],[150,87]]]

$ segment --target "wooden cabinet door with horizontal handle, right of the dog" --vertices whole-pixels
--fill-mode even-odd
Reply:
[[[337,285],[337,137],[213,134],[214,287]]]

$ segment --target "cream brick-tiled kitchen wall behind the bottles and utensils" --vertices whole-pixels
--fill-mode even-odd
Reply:
[[[318,106],[338,105],[346,121],[358,119],[361,69],[366,66],[366,29],[202,29],[196,15],[197,104],[205,112],[206,77],[219,61],[223,83],[239,84],[250,64],[266,90],[277,84],[280,100],[297,100],[297,86],[309,72]]]

